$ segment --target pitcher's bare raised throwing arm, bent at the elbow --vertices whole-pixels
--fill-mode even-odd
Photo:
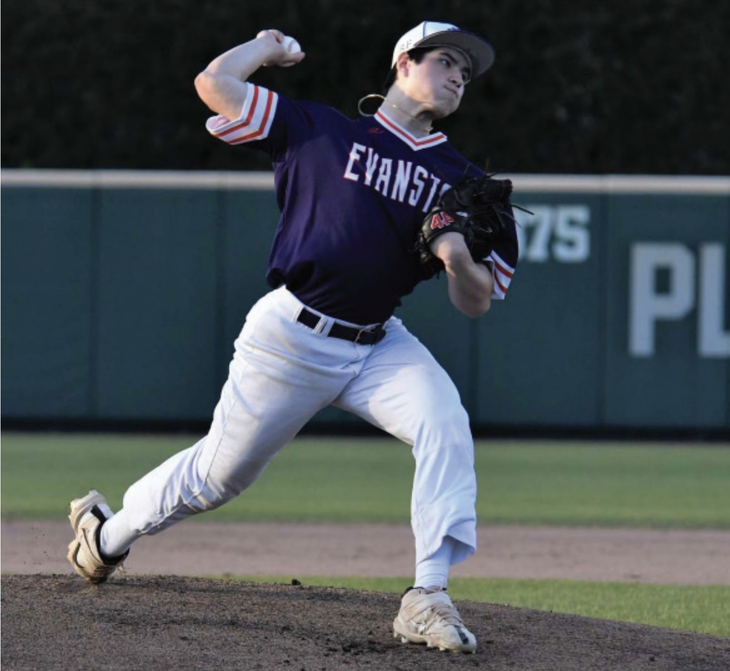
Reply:
[[[246,100],[246,81],[256,70],[287,67],[304,58],[304,52],[289,53],[283,47],[284,37],[281,31],[261,31],[250,42],[215,58],[195,79],[200,99],[216,114],[237,119]]]

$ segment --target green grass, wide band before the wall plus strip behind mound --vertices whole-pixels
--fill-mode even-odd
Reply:
[[[2,518],[64,519],[69,499],[90,487],[118,508],[129,484],[195,441],[3,434]],[[729,448],[478,441],[477,513],[482,524],[730,529]],[[299,438],[249,492],[204,519],[407,524],[412,468],[410,449],[389,438]],[[404,578],[307,583],[398,592]],[[457,600],[730,636],[730,586],[454,578],[449,589]]]

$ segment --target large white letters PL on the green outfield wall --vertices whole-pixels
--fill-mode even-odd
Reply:
[[[659,321],[681,321],[697,305],[697,354],[730,357],[730,331],[724,330],[725,247],[699,246],[696,256],[679,242],[637,242],[631,246],[629,267],[629,354],[652,357]],[[656,288],[656,274],[664,270],[669,287]],[[699,288],[698,288],[699,287]]]

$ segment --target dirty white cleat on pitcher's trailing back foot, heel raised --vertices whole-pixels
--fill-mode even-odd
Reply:
[[[118,557],[101,556],[99,550],[101,525],[113,515],[107,500],[94,489],[85,497],[71,502],[69,520],[76,538],[69,544],[68,559],[76,573],[94,584],[106,581],[129,554],[129,551],[126,551]]]

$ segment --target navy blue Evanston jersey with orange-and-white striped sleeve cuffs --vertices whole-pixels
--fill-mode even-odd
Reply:
[[[443,133],[416,138],[385,115],[350,119],[252,84],[238,120],[207,128],[269,153],[281,218],[266,279],[355,324],[384,322],[432,274],[413,251],[421,222],[450,185],[481,174]],[[515,231],[489,257],[495,298],[517,263]]]

